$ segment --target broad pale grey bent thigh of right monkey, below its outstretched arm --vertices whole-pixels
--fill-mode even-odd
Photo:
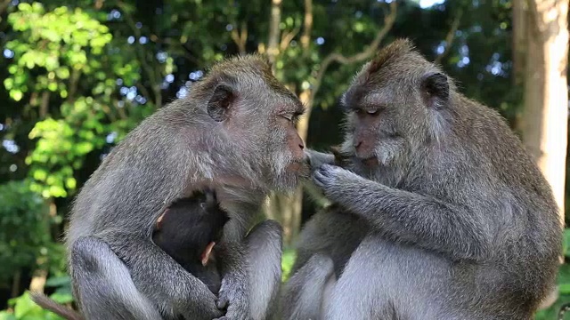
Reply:
[[[325,319],[473,319],[449,300],[452,282],[442,255],[371,233],[328,296]]]

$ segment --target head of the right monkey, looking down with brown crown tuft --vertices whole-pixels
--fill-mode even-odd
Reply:
[[[354,156],[354,169],[362,174],[380,166],[405,170],[411,154],[437,139],[438,108],[449,97],[447,77],[419,54],[385,50],[362,68],[342,99],[343,152]]]

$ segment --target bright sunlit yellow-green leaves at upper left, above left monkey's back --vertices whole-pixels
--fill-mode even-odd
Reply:
[[[77,188],[75,172],[83,167],[85,156],[103,148],[110,133],[121,139],[152,111],[151,104],[131,117],[123,110],[138,106],[142,99],[124,94],[119,100],[117,79],[121,88],[134,88],[141,79],[139,61],[113,54],[125,50],[97,18],[93,12],[67,6],[46,12],[39,3],[19,4],[9,15],[19,36],[5,45],[13,61],[4,87],[15,101],[29,93],[28,107],[38,108],[40,119],[28,134],[36,148],[26,164],[34,180],[31,188],[46,198],[68,196]],[[59,107],[49,108],[54,100]]]

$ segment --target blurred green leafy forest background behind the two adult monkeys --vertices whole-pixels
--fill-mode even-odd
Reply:
[[[310,109],[298,130],[311,148],[340,142],[341,92],[379,46],[403,36],[440,63],[460,92],[497,108],[521,132],[529,121],[525,71],[517,70],[524,66],[513,49],[513,5],[0,0],[0,319],[59,319],[35,306],[28,290],[72,302],[61,237],[77,189],[126,132],[183,98],[226,56],[268,55],[276,76]],[[566,75],[559,81],[566,84]],[[558,103],[567,124],[566,100]],[[556,138],[564,159],[566,138],[566,130]],[[273,196],[265,211],[284,225],[290,248],[323,204],[299,189],[294,196]],[[288,250],[284,277],[293,259]],[[570,265],[562,265],[558,283],[557,300],[538,319],[554,319],[570,301]]]

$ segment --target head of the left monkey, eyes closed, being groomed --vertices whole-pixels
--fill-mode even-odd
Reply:
[[[295,128],[304,108],[257,61],[238,76],[223,79],[208,103],[208,115],[216,120],[233,167],[262,188],[291,190],[305,172],[305,143]]]

